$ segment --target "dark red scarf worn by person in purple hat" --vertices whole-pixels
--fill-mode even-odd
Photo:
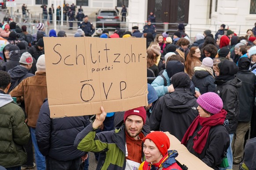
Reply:
[[[185,133],[181,143],[186,145],[188,139],[194,134],[194,131],[197,129],[198,124],[200,124],[202,128],[200,131],[197,132],[197,135],[195,135],[193,139],[193,142],[194,142],[193,149],[195,150],[195,152],[201,154],[201,152],[205,147],[211,127],[222,125],[224,123],[226,115],[227,115],[227,111],[222,109],[220,110],[219,113],[213,114],[210,117],[197,116],[195,120],[192,122],[192,124],[190,125],[190,127],[187,129],[187,132]]]

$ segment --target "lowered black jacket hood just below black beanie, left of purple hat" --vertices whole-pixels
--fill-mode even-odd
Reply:
[[[190,90],[184,88],[176,88],[174,92],[163,97],[166,107],[175,113],[184,113],[187,110],[190,110],[196,103],[196,100],[191,100],[195,97],[192,96]]]

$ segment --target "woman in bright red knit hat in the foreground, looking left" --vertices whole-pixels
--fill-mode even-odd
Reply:
[[[139,170],[182,170],[176,163],[176,150],[168,151],[170,140],[162,131],[154,131],[144,138],[143,152],[146,161],[141,163]]]

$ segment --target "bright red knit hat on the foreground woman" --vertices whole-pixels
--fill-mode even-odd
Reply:
[[[146,139],[150,139],[152,142],[154,142],[162,156],[165,156],[170,148],[170,139],[162,131],[153,131],[149,133],[146,135],[143,142],[145,142]]]

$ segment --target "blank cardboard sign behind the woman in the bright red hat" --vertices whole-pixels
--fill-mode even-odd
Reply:
[[[165,134],[170,139],[170,148],[168,150],[178,151],[178,156],[175,158],[182,165],[186,165],[189,170],[213,170],[211,167],[207,166],[201,159],[190,153],[186,146],[180,143],[180,141],[169,132]]]

